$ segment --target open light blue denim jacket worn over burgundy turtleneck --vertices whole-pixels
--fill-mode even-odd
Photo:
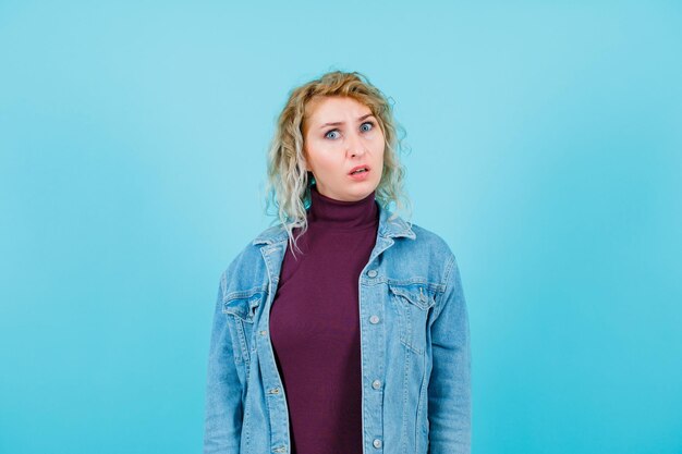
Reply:
[[[454,255],[437,234],[379,207],[361,272],[364,454],[468,454],[471,351]],[[204,453],[290,453],[287,394],[269,314],[288,247],[271,226],[220,277],[206,388]]]

